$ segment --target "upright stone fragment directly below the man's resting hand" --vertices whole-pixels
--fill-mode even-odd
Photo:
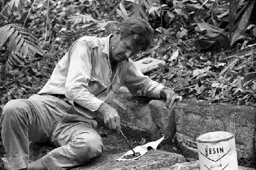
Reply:
[[[155,135],[160,137],[163,134],[167,140],[172,140],[176,133],[174,109],[164,109],[166,103],[160,100],[152,100],[148,105],[158,128]]]

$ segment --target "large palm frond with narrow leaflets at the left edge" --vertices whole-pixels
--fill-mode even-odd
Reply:
[[[8,63],[10,65],[23,65],[24,59],[34,54],[44,56],[38,46],[38,39],[27,29],[20,25],[9,24],[0,28],[0,48],[4,45],[10,51]]]

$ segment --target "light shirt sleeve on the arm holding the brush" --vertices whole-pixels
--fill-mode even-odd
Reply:
[[[66,97],[90,111],[96,111],[103,101],[88,91],[91,78],[91,52],[86,41],[78,41],[69,51],[69,71],[65,84]]]

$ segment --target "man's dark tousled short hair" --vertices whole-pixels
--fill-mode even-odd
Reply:
[[[140,46],[142,51],[150,46],[153,29],[145,20],[129,17],[123,20],[118,28],[120,28],[121,39],[131,38],[133,45]]]

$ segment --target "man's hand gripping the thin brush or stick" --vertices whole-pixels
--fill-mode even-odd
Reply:
[[[104,124],[110,129],[116,129],[118,132],[121,130],[120,117],[116,109],[106,103],[102,103],[97,110],[104,117]]]

